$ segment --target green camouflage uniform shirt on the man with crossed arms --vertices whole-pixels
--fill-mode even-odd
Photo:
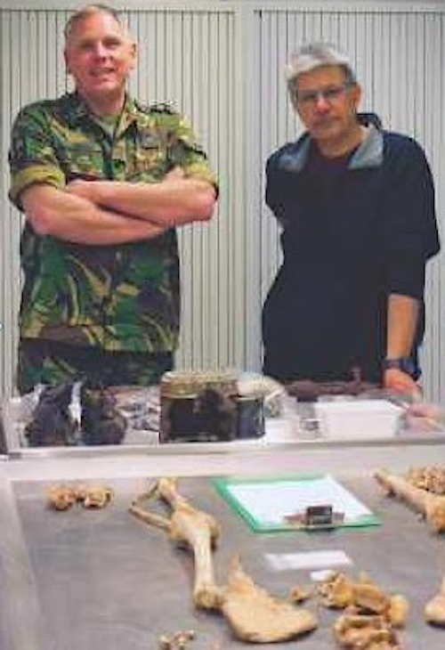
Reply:
[[[10,199],[19,208],[20,192],[33,183],[61,189],[75,179],[153,183],[174,167],[214,183],[206,155],[181,116],[164,105],[142,108],[130,97],[114,137],[77,93],[29,105],[12,129],[10,166]],[[48,342],[67,346],[68,356],[72,346],[88,348],[92,358],[160,354],[163,367],[163,355],[174,353],[180,313],[174,229],[150,240],[85,246],[38,236],[27,223],[20,254],[20,339],[27,344],[20,348],[23,390],[36,379],[55,383],[63,369],[75,374],[75,362],[65,359],[55,363],[57,371],[47,363],[46,374],[38,376],[42,355],[51,350]],[[29,354],[38,349],[29,346],[32,341],[44,342],[39,361]]]

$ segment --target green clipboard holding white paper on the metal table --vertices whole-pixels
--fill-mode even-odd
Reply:
[[[212,479],[215,489],[255,532],[302,531],[287,519],[321,502],[344,508],[344,519],[336,527],[379,525],[380,519],[333,476],[290,475],[272,478]]]

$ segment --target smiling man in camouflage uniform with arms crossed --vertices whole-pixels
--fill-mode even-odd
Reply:
[[[66,30],[76,90],[20,111],[10,198],[21,240],[17,384],[157,383],[179,334],[175,226],[207,221],[216,184],[190,126],[125,91],[136,48],[89,5]]]

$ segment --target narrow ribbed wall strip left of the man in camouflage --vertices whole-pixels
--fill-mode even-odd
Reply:
[[[62,93],[66,78],[61,57],[67,12],[0,10],[0,393],[12,394],[17,313],[20,302],[20,213],[7,200],[12,119],[21,106]]]

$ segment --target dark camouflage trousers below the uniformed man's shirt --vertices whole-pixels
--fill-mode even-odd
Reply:
[[[107,352],[54,341],[23,340],[19,345],[17,386],[20,394],[34,386],[75,381],[89,386],[151,386],[173,367],[172,353]]]

